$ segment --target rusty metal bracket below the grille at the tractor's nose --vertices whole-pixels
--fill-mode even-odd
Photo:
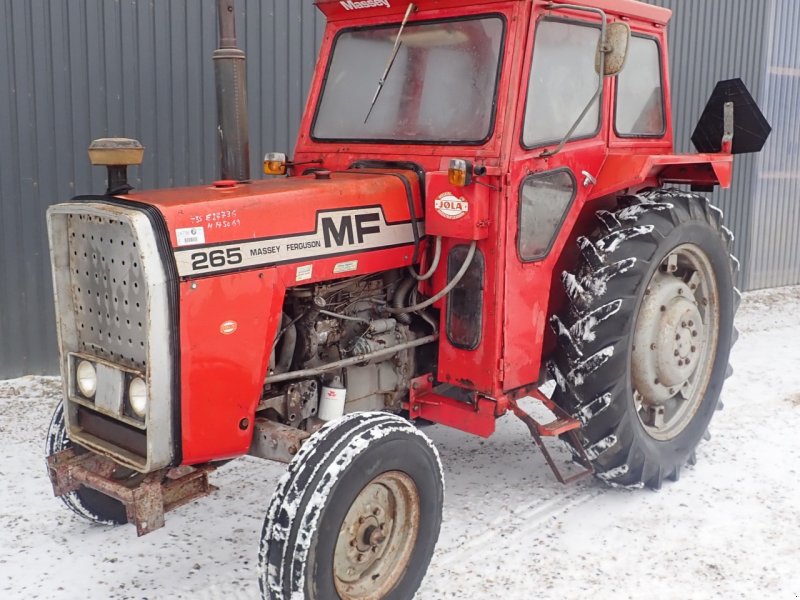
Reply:
[[[119,500],[140,536],[163,527],[164,513],[217,489],[208,481],[208,474],[215,469],[212,465],[160,469],[131,479],[114,479],[117,469],[119,465],[110,458],[91,452],[77,454],[74,448],[47,457],[56,496],[86,486]]]

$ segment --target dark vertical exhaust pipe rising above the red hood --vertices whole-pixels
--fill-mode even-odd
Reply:
[[[245,54],[236,43],[234,0],[217,0],[219,48],[214,51],[220,178],[250,181]]]

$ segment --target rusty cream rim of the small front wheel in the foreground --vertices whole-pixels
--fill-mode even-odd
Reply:
[[[333,579],[344,600],[378,600],[406,572],[419,534],[414,480],[401,471],[378,475],[359,492],[336,541]]]

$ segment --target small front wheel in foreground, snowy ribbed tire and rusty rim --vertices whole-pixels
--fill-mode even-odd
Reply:
[[[388,413],[353,413],[312,436],[272,497],[262,597],[411,598],[442,521],[439,455]]]

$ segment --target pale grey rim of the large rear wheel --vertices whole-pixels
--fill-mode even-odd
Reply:
[[[676,438],[697,414],[714,370],[719,319],[710,259],[695,244],[678,246],[650,279],[634,328],[633,402],[652,438]]]

